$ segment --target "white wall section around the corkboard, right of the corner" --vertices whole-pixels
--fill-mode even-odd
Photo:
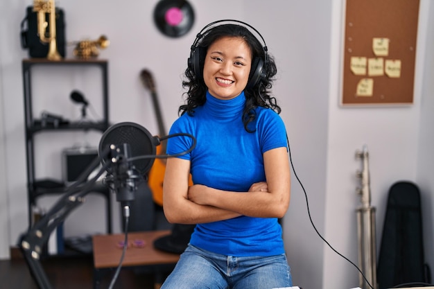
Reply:
[[[340,67],[342,49],[342,1],[333,1],[331,65],[329,94],[329,128],[327,144],[327,200],[325,213],[325,236],[329,243],[357,264],[356,212],[360,204],[355,193],[360,185],[356,179],[356,170],[361,169],[361,161],[355,159],[356,150],[366,144],[370,152],[370,187],[372,206],[376,207],[377,250],[381,240],[387,195],[390,186],[399,180],[410,180],[426,189],[424,198],[433,199],[433,180],[422,177],[433,170],[433,162],[428,159],[433,153],[428,151],[433,143],[433,134],[419,137],[419,127],[428,132],[432,130],[432,113],[423,104],[432,103],[432,89],[428,84],[422,94],[422,80],[432,68],[424,61],[427,45],[429,1],[421,1],[419,12],[419,33],[417,42],[417,60],[415,94],[413,105],[404,107],[340,107]],[[429,36],[432,42],[432,37]],[[428,53],[428,52],[427,52]],[[432,58],[432,56],[430,56]],[[428,70],[428,71],[427,71]],[[424,76],[424,71],[427,73]],[[423,121],[423,123],[422,123]],[[428,129],[429,128],[429,129]],[[422,156],[419,149],[424,149]],[[429,157],[428,157],[429,156]],[[419,157],[419,158],[418,158]],[[428,158],[428,159],[426,159]],[[424,160],[422,160],[424,159]],[[420,169],[423,170],[420,170]],[[420,172],[419,172],[420,171]],[[421,175],[419,175],[421,174]],[[431,209],[424,204],[424,209]],[[432,224],[433,216],[425,212],[424,216]],[[432,247],[432,227],[426,227],[426,247]],[[324,245],[323,288],[351,288],[358,277],[355,268]],[[432,249],[429,250],[432,253]],[[428,255],[427,255],[428,256]],[[432,254],[428,257],[431,262]],[[432,263],[431,263],[432,264]]]

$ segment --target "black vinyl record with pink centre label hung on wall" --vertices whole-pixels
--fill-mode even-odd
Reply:
[[[194,11],[186,0],[161,0],[154,10],[158,30],[169,37],[180,37],[191,29]]]

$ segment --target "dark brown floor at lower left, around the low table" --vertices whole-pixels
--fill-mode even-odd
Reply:
[[[92,289],[92,256],[74,256],[41,261],[52,289]],[[114,274],[110,272],[101,282],[101,289],[110,286]],[[0,260],[0,288],[39,289],[24,259]],[[123,269],[116,279],[114,289],[153,289],[153,274],[140,270]]]

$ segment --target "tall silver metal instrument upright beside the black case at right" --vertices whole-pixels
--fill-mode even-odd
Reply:
[[[376,284],[376,234],[375,234],[375,207],[371,206],[369,154],[367,146],[363,151],[356,151],[356,158],[363,160],[363,170],[357,172],[361,179],[362,187],[357,189],[361,195],[361,206],[357,212],[358,235],[358,265],[365,275],[363,279],[359,274],[360,288],[377,288]],[[369,282],[369,284],[367,283]]]

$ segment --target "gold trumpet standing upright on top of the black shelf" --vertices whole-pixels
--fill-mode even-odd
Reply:
[[[46,58],[49,60],[61,60],[58,51],[58,45],[55,40],[55,6],[54,0],[35,0],[33,1],[33,12],[37,12],[37,34],[41,42],[49,43],[49,53]],[[45,14],[49,14],[49,21],[47,23]],[[49,32],[47,32],[47,28]]]

